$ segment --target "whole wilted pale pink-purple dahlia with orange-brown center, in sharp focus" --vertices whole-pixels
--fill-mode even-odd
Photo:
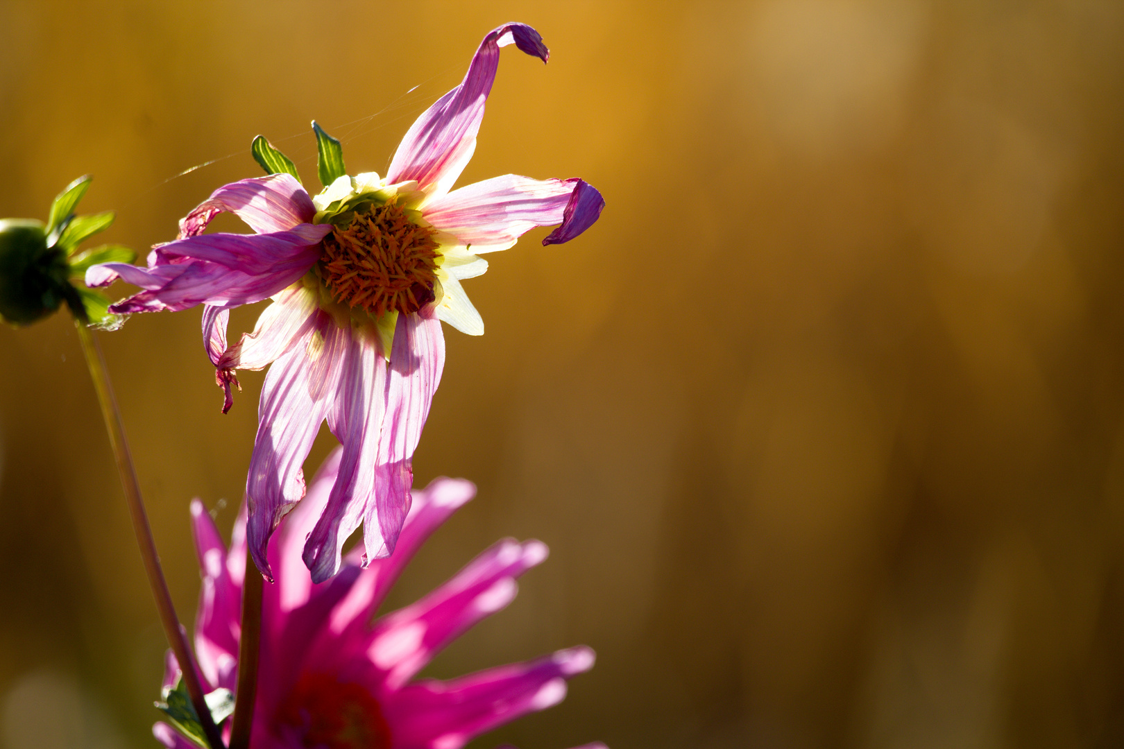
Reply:
[[[450,192],[475,148],[499,63],[514,43],[545,62],[538,33],[507,24],[488,34],[464,81],[410,127],[387,176],[344,173],[339,143],[315,122],[324,190],[310,197],[292,162],[263,138],[254,157],[273,172],[216,190],[156,246],[148,267],[106,263],[87,283],[116,278],[144,291],[111,312],[205,304],[203,344],[232,404],[236,369],[265,377],[246,481],[250,551],[271,577],[266,541],[305,493],[301,465],[326,419],[343,444],[339,481],[303,549],[312,579],[339,568],[341,545],[360,523],[375,557],[395,548],[409,511],[411,458],[444,366],[439,320],[483,332],[461,281],[480,257],[511,247],[536,226],[560,225],[544,245],[573,239],[600,216],[600,193],[579,179],[507,174]],[[254,235],[201,234],[230,211]],[[227,345],[229,310],[272,298],[254,331]]]

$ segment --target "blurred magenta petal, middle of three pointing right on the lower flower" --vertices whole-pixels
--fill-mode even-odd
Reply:
[[[388,686],[405,685],[454,638],[510,603],[515,578],[546,554],[541,541],[499,541],[426,597],[380,619],[366,652]]]

